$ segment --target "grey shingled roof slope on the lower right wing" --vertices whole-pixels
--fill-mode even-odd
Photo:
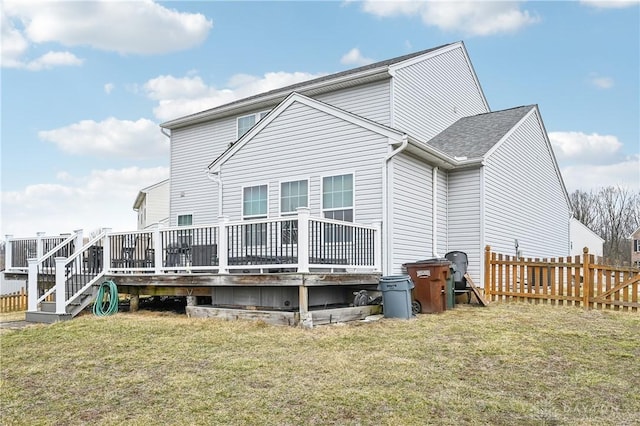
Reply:
[[[427,142],[451,157],[483,158],[535,105],[463,117]]]

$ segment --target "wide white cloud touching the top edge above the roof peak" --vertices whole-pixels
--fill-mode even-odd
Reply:
[[[539,22],[520,9],[520,2],[502,1],[376,1],[362,3],[365,12],[379,17],[419,16],[425,25],[468,35],[515,32]]]

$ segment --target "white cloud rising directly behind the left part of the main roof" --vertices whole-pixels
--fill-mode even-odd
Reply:
[[[153,112],[157,119],[164,121],[321,75],[304,72],[271,72],[262,77],[237,74],[229,79],[226,88],[221,89],[208,86],[197,75],[190,74],[182,78],[165,75],[147,81],[144,90],[149,98],[158,101]]]

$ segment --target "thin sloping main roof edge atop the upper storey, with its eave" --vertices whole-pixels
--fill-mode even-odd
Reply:
[[[350,85],[363,84],[370,81],[390,78],[391,75],[389,73],[389,67],[391,66],[394,66],[394,68],[400,67],[402,66],[403,62],[407,62],[407,64],[410,64],[418,60],[418,58],[420,58],[421,56],[433,54],[434,52],[443,49],[451,49],[456,47],[462,47],[464,50],[464,44],[460,41],[444,44],[442,46],[421,50],[419,52],[386,59],[384,61],[375,62],[373,64],[364,65],[358,68],[352,68],[334,74],[328,74],[322,77],[315,78],[313,80],[308,80],[286,87],[273,89],[268,92],[259,93],[257,95],[239,99],[237,101],[233,101],[224,105],[166,121],[160,124],[160,127],[166,129],[176,129],[207,121],[211,117],[220,116],[221,114],[224,114],[226,112],[237,113],[238,111],[242,111],[243,108],[259,109],[263,106],[266,107],[267,103],[272,105],[274,103],[282,101],[284,98],[286,98],[286,96],[294,91],[311,96],[318,93],[335,90],[336,88],[340,87],[348,87]],[[264,103],[265,105],[261,105],[261,103]]]

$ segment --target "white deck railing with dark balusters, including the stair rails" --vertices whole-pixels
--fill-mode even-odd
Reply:
[[[54,241],[59,243],[53,245]],[[312,218],[307,208],[274,219],[230,222],[223,217],[214,225],[131,232],[105,229],[86,244],[81,241],[81,231],[63,240],[39,235],[9,241],[12,254],[34,243],[36,251],[51,247],[27,262],[27,290],[35,295],[29,297],[29,311],[53,298],[56,313],[64,313],[104,274],[381,270],[379,224]]]

